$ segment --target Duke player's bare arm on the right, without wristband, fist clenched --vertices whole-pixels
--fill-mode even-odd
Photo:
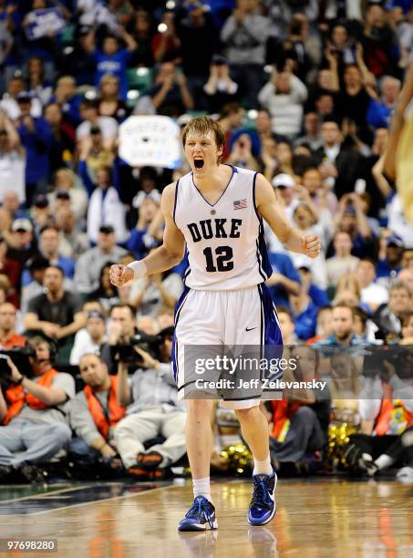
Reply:
[[[285,248],[292,252],[305,253],[310,258],[317,257],[321,250],[320,239],[316,234],[305,235],[291,226],[276,201],[273,186],[262,174],[257,174],[256,177],[255,203],[257,211]]]

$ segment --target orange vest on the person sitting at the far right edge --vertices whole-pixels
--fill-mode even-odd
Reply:
[[[413,413],[399,399],[393,400],[392,389],[386,382],[383,383],[383,391],[374,431],[377,436],[399,435],[413,424]]]

